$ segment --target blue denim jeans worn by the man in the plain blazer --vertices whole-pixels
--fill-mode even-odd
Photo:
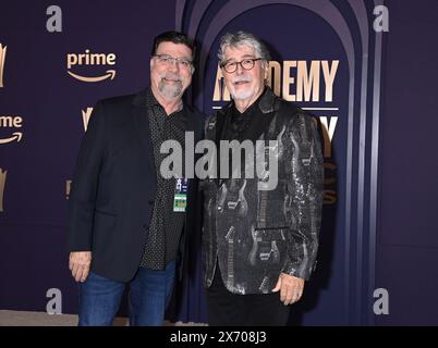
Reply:
[[[90,273],[80,284],[80,326],[110,326],[119,310],[123,291],[130,285],[130,325],[159,326],[173,290],[175,262],[165,271],[139,268],[130,283]]]

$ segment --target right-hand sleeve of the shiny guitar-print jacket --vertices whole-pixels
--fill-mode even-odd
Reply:
[[[288,183],[288,190],[292,196],[292,238],[282,272],[308,279],[316,266],[318,250],[324,159],[314,117],[299,114],[291,122],[292,181]]]

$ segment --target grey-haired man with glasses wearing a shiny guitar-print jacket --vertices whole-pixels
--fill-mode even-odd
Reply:
[[[222,175],[223,151],[229,151],[221,141],[257,141],[265,149],[257,175],[247,175],[246,169],[256,165],[245,154],[240,167],[227,165],[228,178],[203,182],[209,324],[285,325],[289,304],[300,300],[316,264],[320,138],[311,115],[266,86],[269,52],[258,38],[227,34],[218,57],[232,101],[206,126],[206,138],[220,149],[217,173]],[[276,166],[267,165],[265,153],[273,153]],[[271,175],[278,175],[276,187],[264,187]]]

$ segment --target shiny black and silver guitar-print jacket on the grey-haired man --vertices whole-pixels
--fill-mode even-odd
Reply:
[[[218,144],[231,107],[207,120],[206,139]],[[211,285],[219,266],[227,288],[242,295],[269,293],[282,272],[308,279],[321,221],[324,167],[314,119],[269,88],[258,107],[264,119],[257,122],[266,124],[253,140],[277,140],[256,141],[255,147],[261,142],[265,154],[269,146],[276,154],[277,186],[259,189],[270,169],[251,178],[244,173],[251,161],[242,162],[241,178],[208,177],[202,183],[205,285]]]

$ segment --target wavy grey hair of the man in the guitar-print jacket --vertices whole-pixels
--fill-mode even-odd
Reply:
[[[226,49],[228,47],[236,48],[239,46],[250,46],[255,50],[256,54],[258,55],[257,58],[261,58],[264,61],[270,60],[268,49],[258,37],[256,37],[254,34],[240,30],[234,34],[227,33],[220,38],[220,47],[218,51],[219,62],[223,63],[226,58]]]

